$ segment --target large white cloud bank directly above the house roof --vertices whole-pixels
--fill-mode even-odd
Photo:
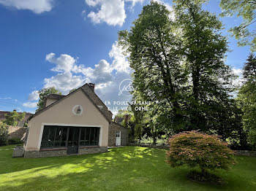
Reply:
[[[115,42],[109,52],[112,62],[109,63],[102,59],[93,67],[78,65],[77,59],[71,55],[58,57],[54,53],[50,53],[46,55],[46,61],[55,65],[51,70],[56,71],[57,74],[45,78],[43,87],[53,86],[63,94],[67,94],[73,88],[81,87],[86,82],[92,82],[96,84],[95,90],[103,101],[129,101],[130,97],[118,95],[120,82],[130,78],[132,72],[127,58],[121,53],[122,51],[122,47],[118,47]],[[29,106],[29,104],[31,102],[23,105]]]

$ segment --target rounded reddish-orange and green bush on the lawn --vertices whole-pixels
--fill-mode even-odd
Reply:
[[[172,167],[185,164],[190,168],[199,167],[203,176],[207,176],[207,170],[228,169],[236,163],[233,151],[218,136],[192,130],[173,136],[169,144],[168,164]]]

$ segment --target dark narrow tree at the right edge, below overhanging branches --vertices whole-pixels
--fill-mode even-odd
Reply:
[[[244,112],[244,128],[249,131],[249,141],[256,145],[256,58],[250,54],[244,63],[244,85],[239,90],[238,98]]]

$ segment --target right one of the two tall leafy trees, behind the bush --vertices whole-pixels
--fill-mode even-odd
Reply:
[[[231,71],[225,65],[227,38],[222,36],[221,21],[202,9],[206,0],[174,0],[176,26],[181,30],[182,53],[191,80],[188,111],[190,129],[227,128],[232,116],[230,106]],[[231,128],[231,127],[229,127]]]

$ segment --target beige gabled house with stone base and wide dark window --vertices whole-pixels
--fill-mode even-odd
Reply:
[[[53,157],[107,152],[127,145],[128,130],[86,84],[68,95],[51,94],[45,108],[29,118],[24,157]]]

